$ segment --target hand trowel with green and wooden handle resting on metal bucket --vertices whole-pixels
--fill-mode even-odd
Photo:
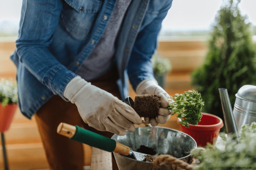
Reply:
[[[60,123],[57,133],[70,140],[88,144],[92,147],[102,149],[107,152],[115,152],[121,155],[130,156],[133,159],[144,161],[148,154],[132,151],[132,148],[116,142],[114,139],[83,129],[79,126],[73,126],[67,123]]]

